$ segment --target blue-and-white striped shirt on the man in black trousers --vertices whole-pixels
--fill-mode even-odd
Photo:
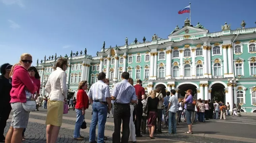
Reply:
[[[137,100],[135,88],[125,79],[115,84],[112,96],[116,97],[116,103],[130,103],[131,100]]]

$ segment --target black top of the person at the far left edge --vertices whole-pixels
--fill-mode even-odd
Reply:
[[[11,78],[7,79],[3,75],[0,75],[0,99],[3,103],[9,103],[11,100]]]

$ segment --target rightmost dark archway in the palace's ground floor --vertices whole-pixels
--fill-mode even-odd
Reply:
[[[211,100],[226,103],[225,86],[223,84],[215,83],[212,85]]]

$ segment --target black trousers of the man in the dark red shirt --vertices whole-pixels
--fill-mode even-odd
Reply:
[[[138,104],[134,106],[134,111],[136,115],[135,120],[135,134],[136,136],[140,136],[140,126],[141,126],[141,119],[142,119],[142,113],[143,113],[143,104],[141,101],[138,101]]]

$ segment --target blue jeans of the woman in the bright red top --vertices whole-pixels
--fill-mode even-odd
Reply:
[[[83,112],[81,109],[75,109],[75,112],[76,112],[76,122],[75,122],[74,138],[79,138],[81,126],[83,124],[85,115],[82,115]]]

